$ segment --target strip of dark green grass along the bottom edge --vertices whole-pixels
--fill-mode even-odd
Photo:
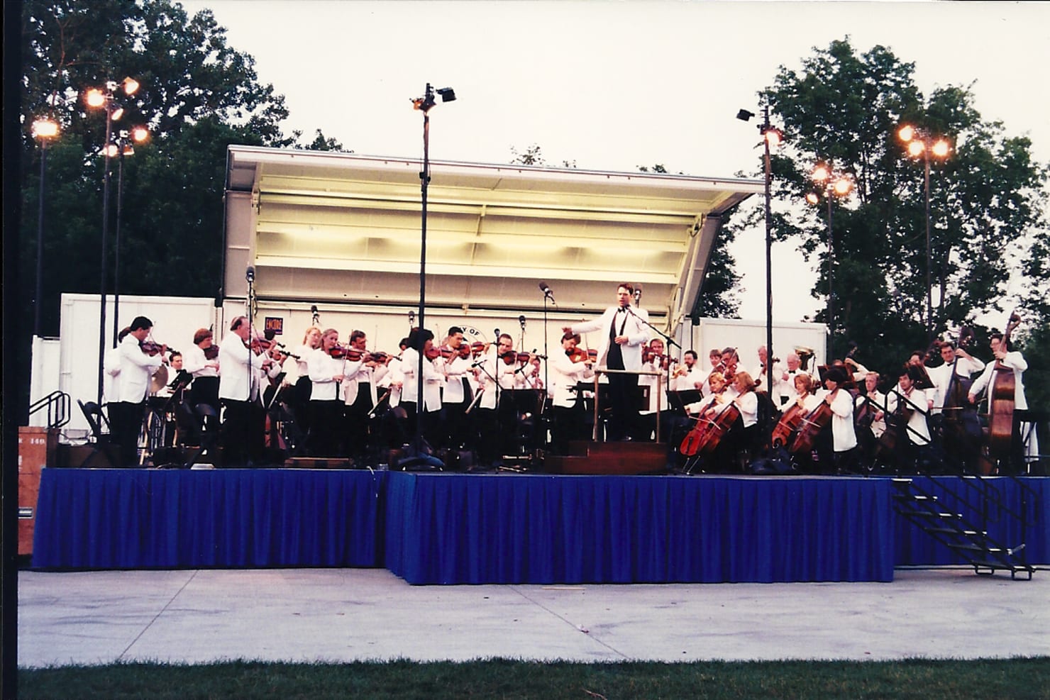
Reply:
[[[19,697],[1021,700],[1050,698],[1050,657],[890,662],[118,663],[23,669]]]

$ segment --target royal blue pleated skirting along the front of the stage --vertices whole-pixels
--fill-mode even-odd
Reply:
[[[1042,508],[1050,479],[1025,482]],[[1042,512],[1002,534],[1050,561]],[[44,469],[33,553],[49,570],[385,567],[410,584],[889,581],[961,563],[895,513],[886,478],[335,469]]]

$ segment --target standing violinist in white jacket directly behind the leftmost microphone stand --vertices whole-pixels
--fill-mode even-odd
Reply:
[[[230,322],[218,345],[218,399],[223,404],[223,463],[251,466],[262,460],[266,412],[260,399],[262,373],[275,372],[273,360],[252,349],[247,316]]]

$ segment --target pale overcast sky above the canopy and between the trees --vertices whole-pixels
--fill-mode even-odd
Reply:
[[[916,64],[928,94],[972,83],[975,107],[1050,162],[1050,3],[1044,2],[337,2],[205,0],[230,44],[256,60],[291,110],[370,155],[422,155],[410,100],[435,87],[458,101],[430,113],[430,156],[506,163],[539,144],[550,165],[727,176],[758,164],[757,131],[735,119],[780,65],[849,37]],[[438,176],[438,173],[434,173]],[[748,239],[748,238],[754,238]],[[735,251],[740,310],[764,318],[762,234]],[[775,316],[821,305],[791,246],[774,250]],[[800,282],[799,280],[803,280]]]

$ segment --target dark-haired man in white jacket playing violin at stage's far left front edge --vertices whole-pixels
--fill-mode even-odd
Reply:
[[[131,330],[118,345],[120,383],[117,403],[109,404],[109,423],[114,442],[120,447],[120,464],[131,467],[139,464],[139,433],[146,415],[146,396],[149,394],[153,373],[164,363],[167,345],[150,347],[146,344],[153,322],[136,316]]]

